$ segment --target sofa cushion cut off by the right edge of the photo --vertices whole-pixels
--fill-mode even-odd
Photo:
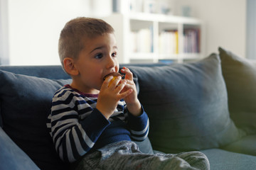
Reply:
[[[256,133],[256,66],[219,47],[223,77],[228,91],[230,117],[248,134]]]

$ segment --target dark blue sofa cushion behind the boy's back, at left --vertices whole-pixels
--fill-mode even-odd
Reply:
[[[40,169],[66,169],[46,128],[54,92],[68,80],[50,80],[0,70],[3,129]]]

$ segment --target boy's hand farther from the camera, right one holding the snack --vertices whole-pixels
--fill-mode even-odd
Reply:
[[[137,98],[137,89],[133,81],[133,74],[127,67],[123,67],[121,72],[125,74],[124,79],[127,81],[127,84],[124,86],[121,93],[132,89],[132,94],[124,97],[124,101],[127,103],[127,109],[132,115],[139,116],[142,113],[142,106]]]

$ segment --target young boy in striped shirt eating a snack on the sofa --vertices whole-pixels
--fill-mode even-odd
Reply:
[[[96,18],[75,18],[60,33],[59,55],[72,77],[55,92],[48,128],[55,149],[74,169],[209,169],[200,152],[142,154],[149,118],[137,98],[132,72],[119,72],[114,29]],[[110,76],[109,76],[110,75]]]

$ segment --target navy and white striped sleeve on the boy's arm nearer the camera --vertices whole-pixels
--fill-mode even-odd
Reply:
[[[50,131],[60,158],[65,162],[75,162],[95,145],[110,122],[97,109],[80,120],[74,108],[81,107],[85,101],[78,101],[73,93],[60,93],[62,91],[53,97]]]

